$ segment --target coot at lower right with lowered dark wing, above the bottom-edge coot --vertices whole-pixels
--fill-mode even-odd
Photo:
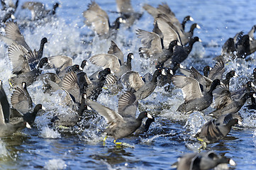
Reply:
[[[203,142],[204,146],[206,143],[217,142],[228,135],[233,125],[241,125],[241,121],[240,115],[235,113],[221,115],[218,119],[209,120],[204,124],[194,137]]]

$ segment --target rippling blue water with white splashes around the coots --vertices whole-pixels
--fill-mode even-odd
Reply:
[[[55,1],[44,1],[50,8]],[[21,4],[23,1],[21,1]],[[57,9],[57,16],[52,21],[37,26],[30,23],[25,26],[23,33],[31,49],[38,49],[40,39],[47,37],[50,43],[45,45],[44,55],[68,55],[79,64],[88,59],[90,55],[106,53],[110,40],[93,38],[93,32],[84,26],[82,11],[87,8],[89,1],[60,1],[61,8]],[[143,4],[149,3],[157,6],[158,1],[132,1],[135,11],[143,11]],[[213,66],[213,57],[221,53],[221,45],[235,33],[244,30],[245,33],[255,25],[254,1],[169,1],[167,4],[176,14],[179,21],[184,16],[191,15],[194,21],[201,26],[195,30],[194,35],[199,36],[202,43],[196,42],[191,55],[182,64],[184,67],[193,65],[201,70],[206,64]],[[116,18],[115,1],[101,1],[99,5],[106,11],[111,22]],[[22,25],[30,13],[18,8],[17,23]],[[145,74],[153,72],[153,68],[145,67],[148,61],[138,55],[140,40],[136,38],[135,30],[140,28],[151,31],[153,18],[144,12],[143,18],[126,30],[121,28],[116,40],[117,45],[124,54],[133,52],[135,60],[132,62],[133,70]],[[187,29],[191,23],[187,23]],[[85,42],[90,42],[88,45]],[[7,79],[11,77],[11,64],[7,57],[7,48],[0,42],[0,77],[4,81],[4,89],[10,100],[12,91],[9,90]],[[252,58],[255,55],[251,55]],[[143,67],[144,66],[144,67]],[[226,72],[235,69],[240,77],[231,81],[231,89],[238,89],[241,84],[250,79],[255,60],[232,61],[226,64]],[[84,70],[91,74],[99,69],[90,65]],[[0,168],[1,169],[172,169],[171,165],[177,157],[187,152],[196,152],[199,143],[193,135],[201,125],[209,119],[200,112],[191,115],[180,115],[176,109],[183,102],[182,91],[174,89],[170,92],[158,88],[148,98],[140,101],[139,110],[149,111],[154,115],[156,122],[152,123],[149,132],[140,136],[126,137],[120,141],[133,145],[129,147],[116,147],[113,139],[108,138],[104,145],[101,132],[106,127],[106,121],[99,115],[87,115],[82,125],[77,125],[69,132],[57,131],[48,126],[50,118],[55,113],[72,113],[63,105],[57,91],[52,96],[43,94],[42,83],[35,82],[28,87],[34,103],[42,103],[47,111],[38,114],[33,129],[25,129],[11,137],[0,140]],[[98,102],[104,106],[117,110],[118,97],[101,94]],[[206,109],[206,113],[211,108]],[[220,142],[208,145],[209,150],[232,157],[238,164],[235,169],[256,168],[256,120],[254,111],[240,111],[243,115],[243,127],[231,130],[228,137]],[[89,127],[89,128],[88,128]]]

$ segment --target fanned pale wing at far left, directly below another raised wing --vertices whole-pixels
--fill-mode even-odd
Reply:
[[[13,74],[18,72],[30,72],[26,54],[21,49],[20,45],[12,44],[8,47],[8,57],[13,66]]]

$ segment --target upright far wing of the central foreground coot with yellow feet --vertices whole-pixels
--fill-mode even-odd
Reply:
[[[135,118],[137,108],[138,101],[132,92],[126,92],[119,98],[118,113],[122,115],[122,117],[133,116]]]

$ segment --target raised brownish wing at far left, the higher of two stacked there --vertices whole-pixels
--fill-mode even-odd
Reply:
[[[20,29],[18,28],[17,23],[9,22],[6,25],[6,38],[10,38],[14,42],[16,42],[18,45],[22,45],[26,48],[26,50],[30,51],[30,47],[26,43],[23,35],[21,34]]]

